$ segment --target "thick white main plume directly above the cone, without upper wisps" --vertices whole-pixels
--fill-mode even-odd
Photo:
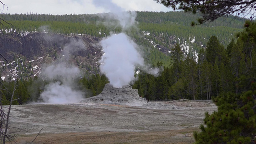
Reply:
[[[134,80],[134,68],[144,60],[136,50],[137,45],[125,34],[112,35],[101,41],[105,54],[99,68],[114,87],[122,87]]]

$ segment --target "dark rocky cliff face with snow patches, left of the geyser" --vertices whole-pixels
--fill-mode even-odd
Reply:
[[[0,35],[0,53],[9,61],[7,66],[0,61],[1,76],[18,78],[24,69],[27,71],[25,76],[35,76],[36,73],[40,73],[43,64],[60,59],[68,60],[92,73],[97,72],[98,60],[102,55],[99,41],[100,38],[89,35],[68,36],[47,33]],[[15,74],[12,74],[12,71]]]

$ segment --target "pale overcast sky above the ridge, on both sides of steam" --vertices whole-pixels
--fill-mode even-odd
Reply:
[[[0,0],[8,6],[0,7],[2,13],[43,13],[43,14],[94,14],[109,12],[97,4],[101,0]],[[108,1],[108,0],[106,0]],[[169,12],[154,0],[110,0],[125,11]]]

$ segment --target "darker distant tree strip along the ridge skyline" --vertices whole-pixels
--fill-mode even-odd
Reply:
[[[136,12],[136,21],[139,23],[160,24],[164,22],[179,23],[189,26],[191,21],[198,18],[199,14],[180,12]],[[38,14],[38,13],[24,13],[24,14],[0,14],[0,17],[6,21],[59,21],[59,22],[73,22],[91,24],[97,21],[104,21],[104,15],[108,13],[99,14]],[[234,20],[235,19],[235,20]],[[227,18],[219,18],[218,20],[203,24],[201,26],[228,26],[235,28],[242,28],[244,18],[239,18],[230,15]],[[225,23],[224,23],[225,22]],[[201,27],[200,26],[200,27]]]

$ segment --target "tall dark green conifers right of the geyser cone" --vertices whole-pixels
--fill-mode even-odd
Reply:
[[[133,85],[139,95],[148,100],[159,99],[213,99],[226,92],[236,94],[244,92],[242,79],[252,76],[253,70],[246,68],[248,64],[256,65],[255,50],[251,58],[243,52],[243,40],[234,39],[227,48],[220,44],[216,36],[211,36],[207,46],[201,49],[198,60],[184,56],[180,45],[171,49],[169,67],[164,66],[160,76],[154,77],[140,72],[138,81]],[[250,60],[250,63],[246,63]],[[247,61],[247,62],[248,62]],[[158,63],[161,67],[161,63]],[[248,72],[251,72],[248,75]]]

